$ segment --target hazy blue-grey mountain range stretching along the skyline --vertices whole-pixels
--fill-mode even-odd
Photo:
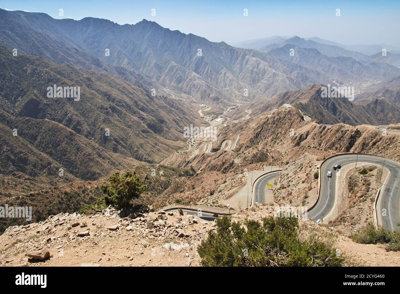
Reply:
[[[148,20],[121,26],[98,18],[76,21],[54,19],[43,13],[0,10],[0,24],[0,43],[10,48],[59,64],[120,76],[148,91],[155,89],[158,94],[222,105],[272,98],[312,84],[380,81],[399,74],[398,68],[390,66],[398,63],[397,55],[391,56],[393,61],[380,60],[378,56],[374,59],[299,37],[267,38],[264,41],[273,43],[254,50],[171,31]],[[322,54],[320,60],[333,68],[310,66],[276,50],[286,45],[317,49]],[[304,60],[312,60],[315,54],[307,50],[302,53]],[[353,59],[329,59],[338,56]],[[355,69],[349,70],[352,64]],[[335,72],[340,74],[332,76]],[[248,95],[244,96],[244,92]]]

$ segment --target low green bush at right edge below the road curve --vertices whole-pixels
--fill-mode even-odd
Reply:
[[[352,240],[360,244],[386,244],[386,251],[400,250],[400,231],[391,231],[387,228],[375,228],[374,224],[368,223],[360,231],[350,236]]]

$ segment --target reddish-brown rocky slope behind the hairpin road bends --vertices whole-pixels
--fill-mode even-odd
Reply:
[[[237,135],[234,150],[220,150],[224,140],[233,141]],[[196,149],[200,151],[198,155]],[[158,200],[160,205],[179,200],[186,205],[192,202],[223,207],[224,203],[232,204],[231,197],[236,197],[250,181],[251,171],[268,171],[270,166],[278,166],[284,171],[274,183],[274,201],[311,206],[318,188],[313,174],[322,158],[361,152],[400,159],[398,136],[382,136],[380,130],[368,127],[326,126],[312,118],[305,121],[295,107],[262,112],[236,124],[232,121],[212,142],[212,153],[203,150],[199,145],[189,152],[172,154],[162,162],[174,167],[191,166],[197,173],[190,180],[172,183]],[[246,205],[246,194],[243,197],[242,203]]]

